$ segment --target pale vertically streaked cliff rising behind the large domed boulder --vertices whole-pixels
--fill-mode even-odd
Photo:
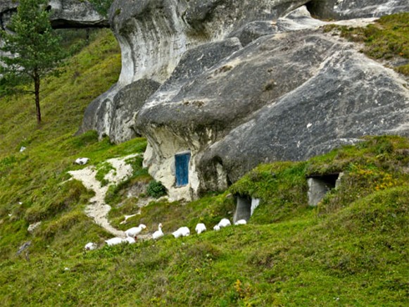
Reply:
[[[307,0],[117,0],[110,9],[110,22],[120,44],[122,70],[118,84],[101,95],[87,109],[80,132],[97,130],[115,142],[126,137],[111,128],[113,117],[106,115],[113,97],[127,84],[140,79],[163,84],[185,51],[215,42],[232,30],[253,20],[274,20]],[[202,61],[198,59],[198,61]],[[93,113],[98,111],[97,113]],[[122,122],[116,119],[117,126]],[[127,130],[127,128],[125,128]],[[111,134],[110,134],[111,132]],[[127,137],[131,134],[127,134]]]

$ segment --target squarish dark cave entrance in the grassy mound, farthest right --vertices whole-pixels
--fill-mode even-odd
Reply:
[[[325,194],[329,190],[336,187],[336,180],[339,178],[339,173],[329,175],[311,175],[307,177],[308,182],[308,204],[317,206],[322,201]]]

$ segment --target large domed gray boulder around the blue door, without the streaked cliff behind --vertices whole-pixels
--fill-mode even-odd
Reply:
[[[191,64],[181,61],[144,104],[135,129],[149,140],[145,164],[171,196],[224,189],[258,163],[302,160],[363,135],[409,135],[405,82],[322,30],[280,32],[322,24],[306,19],[298,10],[278,20],[276,35],[186,78],[177,72]],[[186,151],[191,182],[175,187],[175,155]]]

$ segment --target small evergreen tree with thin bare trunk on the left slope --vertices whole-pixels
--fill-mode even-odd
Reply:
[[[13,76],[30,80],[34,84],[37,123],[41,123],[40,82],[58,63],[63,60],[61,37],[51,27],[47,0],[20,0],[17,13],[11,18],[8,28],[1,31],[4,46],[0,47],[11,56],[1,56],[0,73],[4,77]],[[58,75],[57,71],[54,73]]]

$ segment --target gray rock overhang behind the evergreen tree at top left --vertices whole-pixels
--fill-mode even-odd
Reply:
[[[2,0],[0,3],[0,25],[6,29],[11,15],[17,11],[18,1]],[[53,27],[108,27],[107,18],[97,13],[88,1],[50,0]]]

